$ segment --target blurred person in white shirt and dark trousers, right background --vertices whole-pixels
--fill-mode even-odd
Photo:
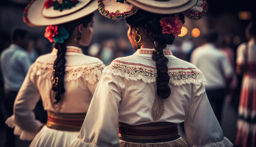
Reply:
[[[230,62],[219,49],[222,39],[220,32],[210,31],[206,36],[207,43],[196,48],[191,55],[191,63],[206,77],[206,93],[220,124],[225,91],[234,74]]]

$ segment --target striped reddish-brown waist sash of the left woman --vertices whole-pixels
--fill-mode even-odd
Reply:
[[[86,113],[54,113],[47,111],[46,126],[55,130],[78,132],[85,117]]]

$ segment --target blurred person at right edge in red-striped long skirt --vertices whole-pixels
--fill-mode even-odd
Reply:
[[[248,42],[239,45],[236,72],[243,75],[238,107],[238,147],[256,146],[256,22],[246,28]]]

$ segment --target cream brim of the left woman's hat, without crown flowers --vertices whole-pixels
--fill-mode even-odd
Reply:
[[[60,17],[47,18],[42,15],[45,0],[33,0],[26,7],[23,13],[23,20],[30,26],[50,26],[68,23],[70,21],[78,20],[79,18],[86,17],[98,9],[97,0],[88,0],[84,7],[75,12],[63,15]]]

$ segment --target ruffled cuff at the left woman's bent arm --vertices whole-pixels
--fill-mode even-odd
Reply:
[[[19,135],[21,140],[33,140],[38,132],[28,132],[26,130],[21,129],[20,127],[15,124],[14,115],[10,116],[6,120],[7,126],[14,128],[14,135]]]

